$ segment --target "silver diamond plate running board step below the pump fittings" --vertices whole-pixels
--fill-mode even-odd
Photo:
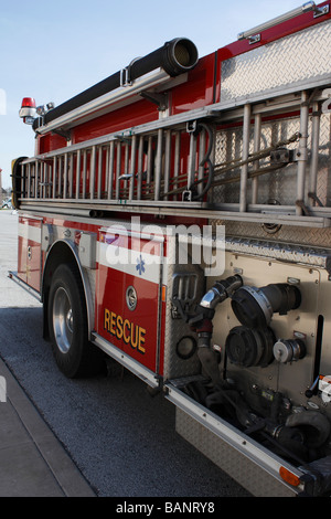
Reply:
[[[291,487],[279,475],[285,467],[300,478],[300,469],[192,400],[173,385],[177,382],[164,384],[166,398],[177,406],[177,432],[197,451],[254,496],[295,497],[303,491],[303,485]]]

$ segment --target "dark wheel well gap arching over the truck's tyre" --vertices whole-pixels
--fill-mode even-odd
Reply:
[[[77,268],[77,272],[79,273],[78,260],[72,246],[67,242],[64,242],[64,241],[55,242],[46,257],[46,264],[44,266],[43,279],[42,279],[43,337],[44,339],[50,338],[47,309],[49,309],[49,294],[50,294],[53,274],[58,267],[58,265],[68,264],[68,263],[75,265],[75,267]]]

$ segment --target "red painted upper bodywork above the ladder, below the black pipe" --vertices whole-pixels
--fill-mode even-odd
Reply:
[[[319,7],[329,2],[321,3]],[[331,18],[331,13],[313,17],[313,12],[302,13],[291,20],[279,23],[261,32],[260,41],[254,45],[248,40],[235,41],[215,53],[200,59],[195,68],[188,73],[188,81],[169,92],[170,115],[177,115],[194,108],[220,102],[222,78],[221,67],[224,60],[249,52],[280,38],[301,31]],[[245,28],[244,28],[245,29]],[[189,86],[188,86],[189,85]],[[116,108],[116,106],[115,106]],[[146,99],[140,99],[129,106],[111,110],[87,123],[75,124],[72,128],[72,142],[77,144],[100,137],[126,128],[157,120],[157,106]],[[65,146],[65,139],[56,134],[38,137],[39,152],[44,153]]]

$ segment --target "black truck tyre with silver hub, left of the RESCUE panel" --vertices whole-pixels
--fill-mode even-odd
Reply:
[[[102,370],[102,352],[88,341],[82,280],[72,265],[60,265],[53,275],[49,326],[55,361],[66,377],[89,377]]]

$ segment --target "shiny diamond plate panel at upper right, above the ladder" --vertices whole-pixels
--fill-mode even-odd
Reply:
[[[226,60],[222,64],[221,102],[328,81],[330,63],[331,24],[324,22]]]

